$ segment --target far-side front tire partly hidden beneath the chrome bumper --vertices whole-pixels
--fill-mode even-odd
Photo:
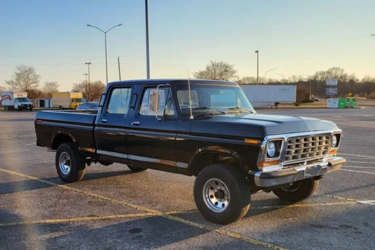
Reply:
[[[318,188],[319,180],[303,179],[300,186],[293,191],[286,191],[282,188],[272,190],[272,192],[281,200],[298,202],[309,198]],[[299,184],[296,182],[296,185]],[[292,189],[293,187],[291,187]]]

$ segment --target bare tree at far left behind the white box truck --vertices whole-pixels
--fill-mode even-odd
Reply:
[[[16,66],[17,71],[14,72],[12,80],[5,80],[5,83],[16,90],[28,92],[30,89],[39,87],[39,80],[41,78],[35,72],[34,67],[29,67],[23,64]]]

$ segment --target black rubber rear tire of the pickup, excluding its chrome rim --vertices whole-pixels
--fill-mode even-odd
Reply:
[[[60,155],[65,152],[70,158],[70,171],[64,174],[60,169]],[[63,143],[57,148],[55,165],[59,177],[65,183],[78,182],[82,180],[86,163],[83,155],[78,151],[74,143]]]

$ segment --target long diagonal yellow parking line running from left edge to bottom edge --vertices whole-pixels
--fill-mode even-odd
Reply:
[[[268,247],[268,248],[274,249],[274,250],[286,250],[285,248],[282,248],[282,247],[279,247],[279,246],[276,246],[276,245],[273,245],[273,244],[270,244],[270,243],[267,243],[267,242],[255,240],[255,239],[252,239],[252,238],[249,238],[249,237],[242,236],[242,235],[237,234],[237,233],[229,232],[227,230],[215,229],[214,227],[210,227],[210,226],[202,225],[202,224],[199,224],[199,223],[196,223],[196,222],[193,222],[193,221],[182,219],[182,218],[179,218],[177,216],[173,216],[173,215],[169,215],[167,213],[163,213],[161,211],[145,208],[145,207],[142,207],[142,206],[134,205],[134,204],[123,202],[123,201],[118,201],[118,200],[115,200],[115,199],[105,197],[103,195],[93,194],[93,193],[89,193],[89,192],[86,192],[86,191],[83,191],[83,190],[80,190],[80,189],[77,189],[77,188],[63,186],[63,185],[60,185],[60,184],[57,184],[57,183],[41,180],[41,179],[35,178],[33,176],[21,174],[21,173],[10,171],[10,170],[3,169],[3,168],[0,168],[0,171],[5,172],[5,173],[9,173],[9,174],[13,174],[13,175],[17,175],[17,176],[20,176],[20,177],[23,177],[23,178],[26,178],[26,179],[42,182],[42,183],[45,183],[45,184],[49,184],[49,185],[54,186],[54,187],[60,187],[60,188],[63,188],[65,190],[74,191],[74,192],[85,194],[87,196],[91,196],[91,197],[95,197],[95,198],[98,198],[98,199],[110,201],[112,203],[120,204],[120,205],[129,207],[129,208],[135,208],[135,209],[138,209],[138,210],[141,210],[141,211],[145,211],[147,213],[153,213],[154,215],[159,215],[159,216],[168,218],[170,220],[181,222],[181,223],[184,223],[184,224],[187,224],[187,225],[190,225],[190,226],[194,226],[194,227],[197,227],[197,228],[200,228],[200,229],[207,229],[209,231],[213,231],[213,232],[219,233],[221,235],[226,235],[226,236],[229,236],[231,238],[235,238],[235,239],[238,239],[238,240],[241,240],[241,241],[244,241],[244,242],[248,242],[248,243],[251,243],[251,244],[254,244],[254,245],[264,246],[264,247]]]

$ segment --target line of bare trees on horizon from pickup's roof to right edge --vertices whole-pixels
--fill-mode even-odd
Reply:
[[[234,64],[228,62],[215,62],[210,61],[204,69],[198,70],[193,73],[195,78],[200,79],[211,79],[211,80],[223,80],[223,81],[233,81],[239,84],[257,84],[256,77],[245,76],[240,78],[237,75],[237,70]],[[370,97],[375,98],[375,78],[370,76],[365,76],[359,79],[355,74],[349,74],[345,72],[344,69],[340,67],[331,67],[327,70],[321,70],[315,72],[311,76],[303,75],[292,75],[286,79],[274,79],[265,77],[258,78],[258,84],[285,84],[285,85],[297,85],[297,91],[300,88],[303,90],[304,97],[309,97],[310,92],[310,82],[311,82],[311,92],[315,96],[325,96],[326,91],[326,79],[336,78],[338,79],[338,96],[345,97],[348,93],[353,95],[357,94],[359,97]]]

